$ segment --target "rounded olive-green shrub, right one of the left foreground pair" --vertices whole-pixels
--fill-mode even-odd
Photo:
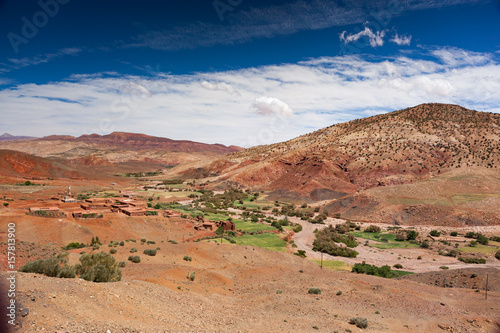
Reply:
[[[118,268],[115,258],[108,253],[84,254],[79,260],[76,272],[84,280],[115,282],[122,279],[122,271]]]

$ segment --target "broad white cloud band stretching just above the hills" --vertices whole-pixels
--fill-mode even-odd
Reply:
[[[380,59],[323,57],[190,75],[98,73],[18,85],[0,89],[0,133],[116,130],[251,146],[427,102],[498,112],[500,55],[454,49],[451,54],[466,59],[458,61],[443,56],[449,49],[420,52]],[[214,93],[222,82],[237,87],[241,96],[227,89]]]

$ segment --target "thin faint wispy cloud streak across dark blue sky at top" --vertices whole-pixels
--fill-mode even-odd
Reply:
[[[196,22],[172,28],[152,30],[125,43],[125,47],[147,47],[159,50],[194,49],[214,45],[244,43],[299,31],[360,24],[373,19],[374,13],[397,16],[407,11],[476,3],[482,0],[405,0],[387,2],[298,0],[279,6],[238,9],[225,14],[227,25]],[[216,15],[214,11],[214,16]],[[367,33],[367,32],[366,32]],[[382,32],[373,32],[375,35]],[[380,38],[373,38],[374,45]]]

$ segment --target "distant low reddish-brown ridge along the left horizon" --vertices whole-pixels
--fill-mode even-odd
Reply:
[[[29,142],[2,142],[0,148],[40,157],[68,159],[74,164],[106,166],[139,161],[177,165],[241,150],[221,144],[177,141],[144,134],[114,132],[109,135],[52,135]]]

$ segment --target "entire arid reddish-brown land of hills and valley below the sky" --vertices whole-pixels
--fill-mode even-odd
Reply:
[[[129,133],[0,142],[15,268],[104,252],[121,271],[17,272],[12,331],[500,332],[499,126],[425,104],[245,150]],[[394,276],[351,272],[363,264]]]

